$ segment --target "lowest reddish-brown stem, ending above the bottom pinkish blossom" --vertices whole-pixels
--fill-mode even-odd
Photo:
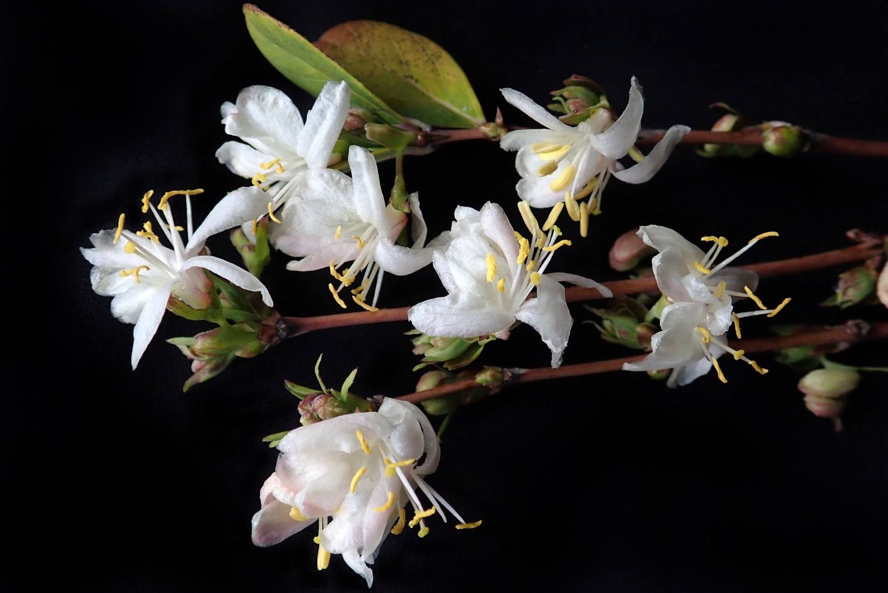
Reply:
[[[838,328],[824,328],[805,334],[796,334],[793,336],[773,336],[747,340],[732,340],[730,345],[732,348],[751,354],[754,352],[767,352],[772,350],[781,350],[783,348],[791,348],[794,346],[819,346],[823,344],[838,344],[841,342],[857,342],[859,340],[879,340],[888,338],[888,321],[877,321],[868,325],[860,321],[849,321],[844,326]],[[577,365],[565,365],[559,368],[530,368],[523,373],[513,376],[508,385],[519,385],[522,383],[534,383],[536,381],[547,381],[549,379],[564,379],[571,376],[597,375],[599,373],[609,373],[622,369],[622,365],[626,362],[637,362],[645,358],[646,354],[638,354],[638,356],[627,356],[622,359],[598,360],[595,362],[583,362]],[[397,399],[403,399],[411,403],[419,403],[427,399],[440,398],[450,393],[465,391],[478,387],[478,383],[474,379],[464,379],[454,383],[445,383],[426,391],[415,391],[402,395]]]

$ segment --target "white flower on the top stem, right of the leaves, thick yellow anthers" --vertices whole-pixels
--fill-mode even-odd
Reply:
[[[644,183],[654,177],[690,131],[684,125],[672,126],[641,162],[623,169],[617,161],[635,145],[644,111],[641,86],[634,76],[629,102],[616,121],[601,107],[576,126],[559,121],[519,91],[501,91],[511,105],[544,126],[542,130],[513,130],[500,141],[504,150],[518,150],[519,196],[534,208],[550,208],[564,201],[570,217],[583,222],[583,236],[588,216],[601,212],[601,196],[611,176],[626,183]]]

